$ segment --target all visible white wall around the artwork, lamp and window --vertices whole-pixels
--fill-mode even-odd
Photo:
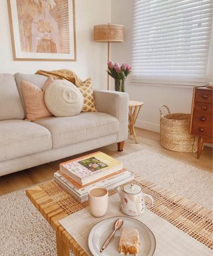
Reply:
[[[7,1],[0,0],[0,73],[35,73],[37,69],[71,69],[81,77],[91,77],[95,88],[107,87],[107,43],[93,42],[93,26],[118,23],[125,26],[124,43],[111,43],[111,59],[131,64],[132,0],[75,0],[77,61],[13,61]],[[111,88],[114,81],[111,79]],[[144,101],[136,125],[159,131],[159,111],[166,104],[172,112],[190,113],[192,87],[132,85],[126,79],[130,99]]]

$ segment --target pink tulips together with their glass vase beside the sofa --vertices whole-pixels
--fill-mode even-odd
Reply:
[[[122,63],[120,66],[118,63],[108,61],[107,73],[110,77],[114,78],[114,89],[115,91],[125,91],[124,81],[127,75],[132,71],[132,67],[127,63]]]

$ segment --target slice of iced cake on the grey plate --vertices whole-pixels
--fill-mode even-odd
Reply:
[[[118,251],[124,255],[137,255],[139,244],[139,234],[137,229],[123,227],[120,235]]]

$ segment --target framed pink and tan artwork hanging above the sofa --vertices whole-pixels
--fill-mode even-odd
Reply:
[[[76,61],[75,0],[7,0],[13,59]]]

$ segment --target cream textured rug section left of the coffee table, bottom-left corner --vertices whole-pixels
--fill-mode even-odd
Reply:
[[[0,197],[0,255],[56,255],[55,232],[25,190]]]

